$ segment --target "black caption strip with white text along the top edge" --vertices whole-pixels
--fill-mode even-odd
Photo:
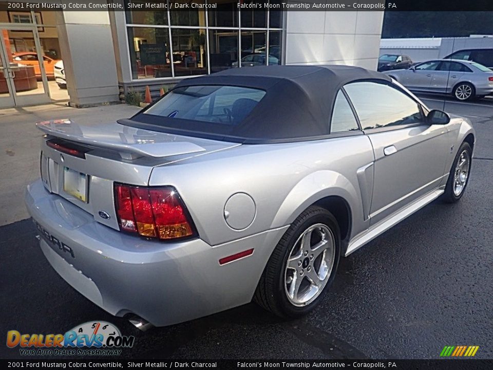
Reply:
[[[491,11],[492,0],[30,0],[7,1],[17,11],[221,11],[225,3],[245,11]],[[230,6],[231,6],[230,4]],[[492,20],[493,22],[493,13]]]

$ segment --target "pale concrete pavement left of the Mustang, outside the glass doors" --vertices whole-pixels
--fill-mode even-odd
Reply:
[[[0,109],[0,226],[29,217],[24,189],[40,177],[38,121],[70,118],[78,123],[105,123],[128,118],[139,108],[126,104],[71,108],[66,103]]]

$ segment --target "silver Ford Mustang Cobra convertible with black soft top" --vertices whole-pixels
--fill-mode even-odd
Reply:
[[[38,124],[41,249],[112,315],[170,325],[252,301],[297,317],[340,256],[464,194],[475,133],[382,73],[237,68],[130,119]]]

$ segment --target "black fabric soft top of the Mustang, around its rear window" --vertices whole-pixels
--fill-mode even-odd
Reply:
[[[313,140],[329,134],[339,88],[352,81],[369,79],[391,81],[380,72],[342,65],[232,68],[182,80],[174,89],[229,85],[265,90],[266,95],[238,125],[201,122],[197,131],[197,121],[146,115],[145,109],[131,121],[119,122],[127,125],[140,122],[160,126],[162,131],[170,133],[244,143]]]

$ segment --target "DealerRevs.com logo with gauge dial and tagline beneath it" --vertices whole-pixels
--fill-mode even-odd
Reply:
[[[122,348],[134,342],[134,336],[122,336],[115,325],[105,321],[86,322],[65,334],[7,332],[7,346],[19,347],[22,356],[119,356]]]

